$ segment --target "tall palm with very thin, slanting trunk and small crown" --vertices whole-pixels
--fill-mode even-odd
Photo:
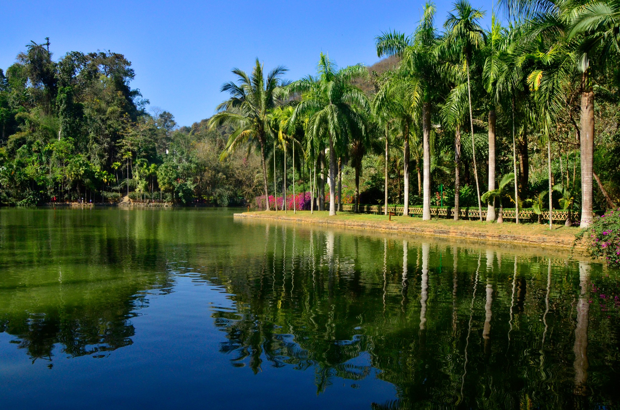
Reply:
[[[444,24],[447,30],[446,47],[452,53],[456,53],[464,60],[467,72],[467,97],[469,99],[469,128],[471,129],[472,155],[474,160],[474,177],[476,178],[476,190],[478,194],[478,211],[482,220],[482,204],[480,203],[480,185],[478,182],[478,170],[476,165],[476,143],[474,141],[474,116],[471,107],[471,81],[469,68],[474,51],[482,46],[485,41],[484,31],[478,24],[478,20],[484,17],[484,11],[472,8],[467,0],[459,0],[454,3],[453,12],[448,14]]]

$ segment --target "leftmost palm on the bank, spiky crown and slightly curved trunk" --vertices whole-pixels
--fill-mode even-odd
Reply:
[[[235,128],[222,152],[222,159],[243,144],[260,147],[266,211],[269,211],[269,201],[265,149],[268,137],[272,136],[268,114],[280,103],[282,86],[286,85],[281,77],[286,71],[284,66],[278,66],[265,77],[258,58],[251,76],[241,69],[232,69],[238,84],[231,81],[222,85],[221,91],[228,92],[231,97],[218,105],[216,115],[209,120],[211,129],[223,124],[230,124]]]

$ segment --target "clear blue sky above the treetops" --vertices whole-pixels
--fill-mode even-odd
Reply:
[[[490,24],[492,0],[472,0]],[[436,2],[443,25],[451,1]],[[294,80],[313,74],[319,53],[339,66],[378,61],[374,37],[413,32],[422,1],[6,1],[0,0],[0,68],[15,61],[30,40],[59,59],[68,51],[111,50],[132,63],[131,83],[170,111],[180,125],[213,115],[226,95],[223,82],[255,58],[266,69],[283,64]]]

